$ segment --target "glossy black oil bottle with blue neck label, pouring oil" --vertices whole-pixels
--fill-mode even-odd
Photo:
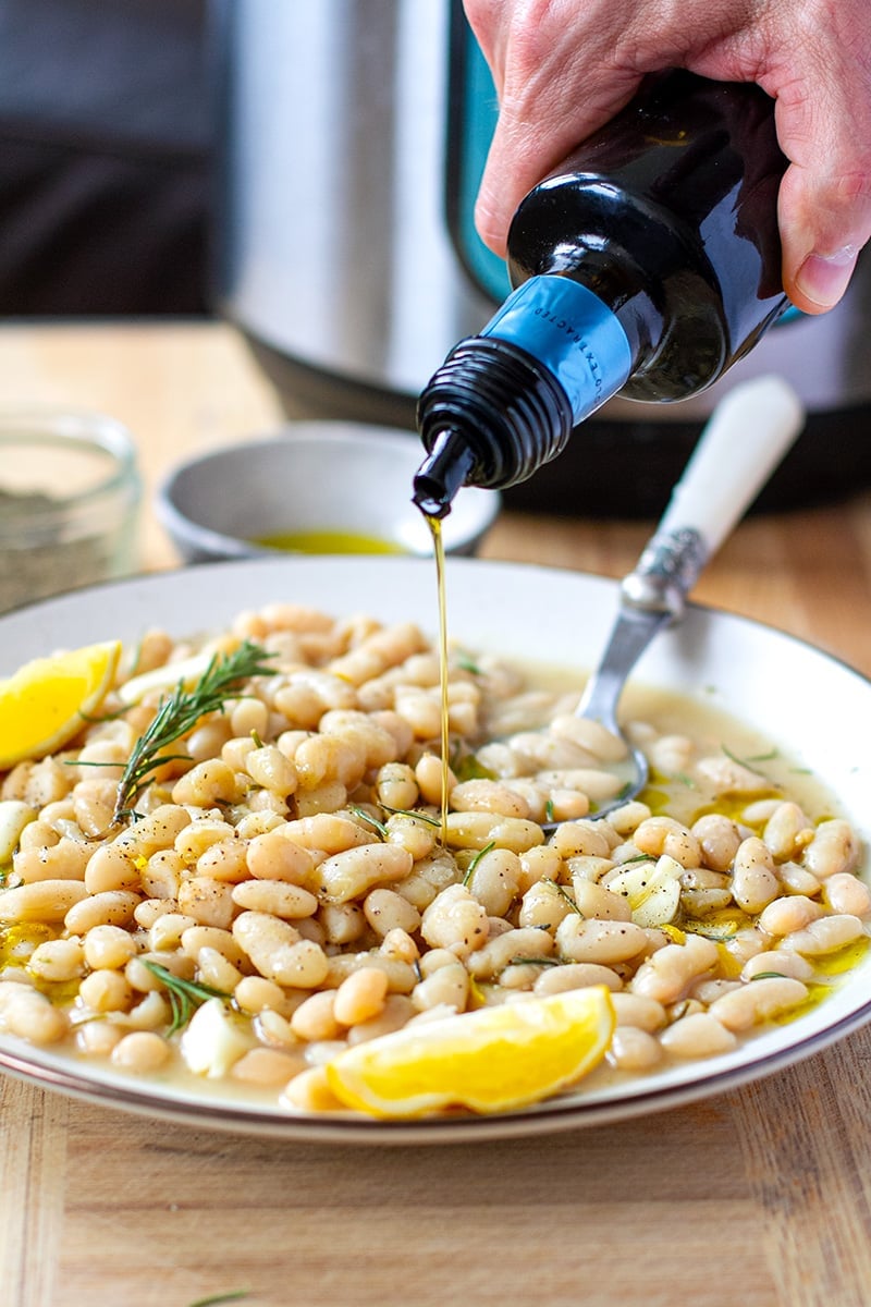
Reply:
[[[755,85],[656,78],[518,207],[516,289],[418,400],[414,501],[507,489],[556,457],[618,392],[710,386],[787,307],[774,105]]]

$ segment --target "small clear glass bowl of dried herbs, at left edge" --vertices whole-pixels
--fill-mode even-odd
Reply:
[[[120,422],[0,410],[0,612],[135,571],[140,498]]]

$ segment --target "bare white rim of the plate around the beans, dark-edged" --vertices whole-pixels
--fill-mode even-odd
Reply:
[[[432,562],[409,558],[282,558],[206,565],[80,591],[0,618],[0,676],[60,647],[163,626],[183,637],[223,626],[243,608],[270,601],[417,621],[435,634]],[[589,669],[616,606],[612,582],[578,572],[451,559],[451,635],[470,650]],[[689,606],[659,637],[639,681],[697,697],[765,733],[840,799],[871,838],[871,682],[778,631]],[[871,1018],[871,962],[806,1016],[755,1036],[725,1056],[648,1074],[629,1087],[584,1090],[524,1112],[492,1117],[383,1123],[290,1116],[240,1102],[205,1082],[196,1093],[132,1080],[95,1063],[0,1036],[0,1068],[77,1097],[201,1127],[337,1142],[445,1142],[577,1128],[649,1114],[731,1089],[807,1057]]]

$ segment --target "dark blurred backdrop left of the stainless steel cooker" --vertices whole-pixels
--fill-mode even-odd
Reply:
[[[208,0],[0,0],[0,318],[209,312]]]

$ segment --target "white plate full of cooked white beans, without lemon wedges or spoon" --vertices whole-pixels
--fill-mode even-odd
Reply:
[[[689,605],[620,704],[649,784],[597,817],[620,759],[573,708],[615,605],[452,558],[444,681],[427,559],[202,565],[0,617],[0,677],[121,642],[72,738],[0,771],[0,1069],[197,1128],[439,1142],[673,1107],[864,1023],[871,686]],[[330,1087],[360,1044],[590,985],[605,1055],[521,1108]]]

